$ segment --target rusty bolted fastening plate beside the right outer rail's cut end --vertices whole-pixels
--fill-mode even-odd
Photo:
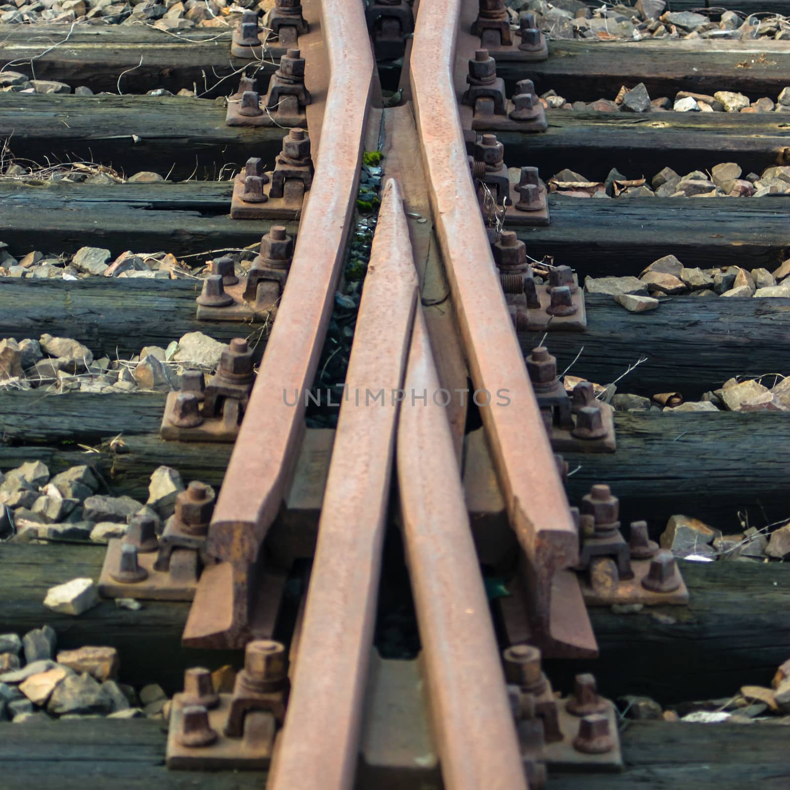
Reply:
[[[671,551],[649,540],[647,523],[630,525],[630,540],[620,532],[619,500],[607,485],[594,485],[581,500],[581,550],[576,570],[588,606],[683,605],[689,593]]]

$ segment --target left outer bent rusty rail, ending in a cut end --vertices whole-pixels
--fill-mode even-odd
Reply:
[[[253,564],[292,476],[359,182],[373,77],[363,4],[322,2],[329,60],[325,123],[288,281],[209,529],[209,554],[228,567],[201,581],[186,645],[241,647],[250,638]],[[284,393],[298,393],[286,404]]]

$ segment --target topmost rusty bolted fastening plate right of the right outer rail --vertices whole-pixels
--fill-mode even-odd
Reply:
[[[505,0],[480,0],[472,36],[480,36],[480,45],[498,60],[537,62],[548,58],[546,38],[536,28],[535,15],[519,14],[518,30],[513,33]]]

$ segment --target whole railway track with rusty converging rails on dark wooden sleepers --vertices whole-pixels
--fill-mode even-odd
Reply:
[[[128,368],[158,393],[100,393],[110,367],[92,359],[99,389],[65,392],[69,371],[36,363],[39,388],[0,392],[0,469],[88,464],[100,491],[142,501],[160,465],[201,481],[161,510],[152,493],[157,512],[130,513],[106,555],[40,545],[93,533],[6,509],[17,532],[0,544],[7,630],[46,621],[62,647],[113,645],[127,682],[176,692],[167,736],[161,717],[119,722],[117,735],[74,722],[77,735],[64,735],[34,714],[0,747],[9,787],[30,778],[23,730],[51,749],[42,787],[85,787],[71,769],[53,777],[52,759],[94,760],[96,781],[130,787],[265,777],[273,790],[595,788],[656,776],[687,786],[667,728],[690,725],[623,727],[608,698],[722,696],[728,683],[768,685],[787,657],[783,566],[701,568],[649,544],[679,512],[725,532],[786,517],[786,470],[766,453],[774,442],[778,452],[785,416],[614,412],[592,386],[557,378],[567,366],[618,382],[645,357],[628,392],[698,400],[776,367],[786,299],[672,296],[631,314],[577,285],[638,275],[668,254],[774,269],[787,257],[786,196],[574,201],[545,184],[563,167],[603,181],[611,167],[784,165],[784,115],[544,111],[535,88],[591,101],[635,81],[653,96],[713,93],[724,80],[776,95],[790,45],[551,42],[546,60],[532,23],[517,30],[493,0],[368,6],[366,22],[362,2],[278,2],[265,24],[279,18],[287,46],[267,41],[250,12],[236,32],[188,41],[142,26],[76,25],[51,49],[49,27],[0,36],[0,77],[28,69],[118,94],[0,93],[3,166],[11,172],[13,156],[28,167],[0,179],[9,250],[21,258],[32,239],[70,253],[107,246],[117,266],[122,250],[175,245],[176,258],[206,265],[197,277],[157,259],[170,272],[157,283],[77,279],[76,263],[63,279],[18,267],[0,278],[2,337],[68,337],[108,364],[167,348],[159,367],[142,355]],[[754,69],[737,65],[766,52]],[[189,98],[138,95],[192,86]],[[66,182],[52,182],[31,164],[49,156],[116,175],[145,162],[168,182],[72,183],[67,164]],[[219,367],[209,379],[182,362],[177,381],[170,341],[194,332],[226,344]],[[322,393],[338,401],[322,404]],[[82,510],[87,521],[87,500]],[[43,591],[82,576],[144,608],[104,601],[77,619],[41,608]],[[777,615],[740,596],[734,615],[744,584],[772,585]],[[662,649],[675,660],[660,660]],[[208,670],[184,674],[221,664],[236,672],[220,694]],[[735,737],[735,725],[720,726],[683,735],[695,782]],[[738,731],[743,750],[751,737]],[[785,776],[773,732],[762,737],[711,781]],[[117,759],[88,754],[103,743]]]

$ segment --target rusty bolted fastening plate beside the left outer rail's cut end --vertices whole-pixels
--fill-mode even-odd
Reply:
[[[193,480],[175,498],[175,513],[161,536],[156,521],[135,516],[126,536],[107,544],[99,577],[105,598],[192,600],[201,570],[210,560],[205,538],[214,509],[214,491]]]

